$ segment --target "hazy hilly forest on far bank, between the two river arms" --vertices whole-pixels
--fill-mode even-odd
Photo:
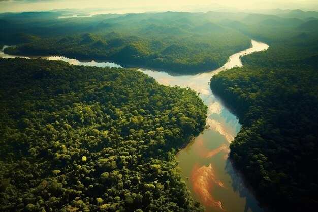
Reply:
[[[4,17],[0,40],[17,45],[6,53],[62,55],[82,60],[110,60],[194,73],[222,66],[228,57],[251,46],[243,33],[215,24],[200,13],[142,13],[51,18],[52,13]],[[39,17],[38,17],[39,16]]]

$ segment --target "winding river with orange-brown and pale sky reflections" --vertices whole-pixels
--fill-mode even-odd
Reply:
[[[8,46],[4,46],[6,48]],[[229,145],[238,133],[241,125],[221,101],[211,92],[209,81],[214,74],[234,66],[242,66],[240,56],[263,51],[267,44],[252,40],[252,47],[233,54],[221,68],[197,75],[170,75],[149,69],[139,69],[155,78],[163,85],[190,87],[199,93],[208,106],[207,129],[182,149],[177,157],[181,176],[186,182],[193,199],[205,206],[207,212],[260,212],[264,211],[245,187],[239,174],[228,159]],[[2,58],[14,58],[0,52]],[[21,56],[19,56],[21,57]],[[25,57],[29,58],[29,57]],[[66,57],[43,57],[49,60],[63,60],[74,65],[98,67],[120,67],[114,63],[79,62]]]

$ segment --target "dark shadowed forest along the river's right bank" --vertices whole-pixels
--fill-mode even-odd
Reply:
[[[317,27],[244,27],[270,47],[211,79],[242,124],[230,157],[271,211],[317,211]]]

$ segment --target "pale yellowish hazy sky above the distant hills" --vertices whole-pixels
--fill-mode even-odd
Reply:
[[[0,13],[54,9],[104,8],[107,13],[149,11],[246,11],[260,9],[318,10],[317,0],[0,0]]]

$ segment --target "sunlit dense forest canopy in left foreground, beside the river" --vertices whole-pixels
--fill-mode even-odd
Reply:
[[[0,75],[1,211],[203,211],[175,160],[205,126],[196,92],[43,59]]]

